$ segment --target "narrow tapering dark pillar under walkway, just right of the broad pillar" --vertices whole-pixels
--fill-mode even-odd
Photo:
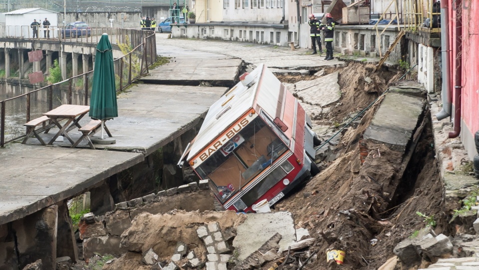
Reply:
[[[71,261],[78,260],[75,232],[68,213],[66,201],[58,204],[58,236],[56,239],[56,257],[70,257]]]

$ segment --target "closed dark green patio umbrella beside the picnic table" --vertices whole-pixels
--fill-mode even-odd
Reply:
[[[113,53],[106,33],[101,35],[96,46],[89,116],[102,121],[118,117]],[[103,122],[101,124],[101,138],[103,139]]]

